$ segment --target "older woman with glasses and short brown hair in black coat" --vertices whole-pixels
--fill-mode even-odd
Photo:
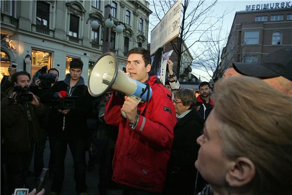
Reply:
[[[192,90],[180,89],[175,94],[177,123],[174,127],[164,194],[194,194],[197,177],[194,162],[199,150],[196,139],[203,128],[203,119],[196,111],[196,105],[197,100]]]

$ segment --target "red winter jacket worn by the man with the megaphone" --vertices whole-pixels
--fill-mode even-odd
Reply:
[[[152,88],[145,116],[139,116],[135,129],[121,116],[123,99],[112,95],[105,110],[105,121],[119,126],[113,159],[113,180],[145,191],[161,192],[173,141],[176,113],[169,91],[157,77],[150,77]],[[138,104],[143,112],[147,102]]]

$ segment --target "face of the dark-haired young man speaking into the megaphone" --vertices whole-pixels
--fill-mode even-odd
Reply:
[[[132,53],[128,56],[126,72],[130,77],[141,83],[148,80],[148,73],[151,70],[151,64],[145,66],[142,54]]]

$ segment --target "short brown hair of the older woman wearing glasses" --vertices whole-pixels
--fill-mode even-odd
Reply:
[[[179,98],[184,106],[189,105],[189,110],[197,105],[197,98],[195,93],[190,89],[180,89],[174,96]]]

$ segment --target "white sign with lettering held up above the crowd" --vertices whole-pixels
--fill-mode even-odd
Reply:
[[[151,55],[179,35],[181,0],[178,0],[151,31]]]

